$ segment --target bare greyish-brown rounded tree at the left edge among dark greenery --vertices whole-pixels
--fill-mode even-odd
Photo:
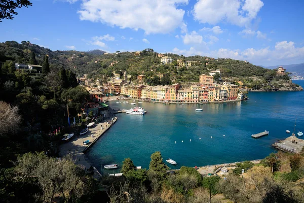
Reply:
[[[19,108],[13,107],[4,101],[0,101],[0,136],[14,134],[19,130],[21,116]]]

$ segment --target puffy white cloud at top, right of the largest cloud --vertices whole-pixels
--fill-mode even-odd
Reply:
[[[193,15],[201,23],[221,21],[248,26],[263,7],[261,0],[198,0]]]

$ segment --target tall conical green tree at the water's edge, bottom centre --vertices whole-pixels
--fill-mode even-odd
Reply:
[[[163,179],[167,175],[168,169],[169,167],[163,162],[161,152],[155,152],[151,155],[149,171],[155,172],[160,179]]]

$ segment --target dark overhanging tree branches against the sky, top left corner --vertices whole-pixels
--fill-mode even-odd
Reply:
[[[13,15],[18,15],[16,8],[32,6],[28,0],[2,0],[0,3],[0,22],[2,19],[14,19]]]

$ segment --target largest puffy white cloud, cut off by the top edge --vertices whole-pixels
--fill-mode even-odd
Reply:
[[[83,0],[78,13],[81,20],[142,29],[148,35],[182,26],[185,11],[177,6],[187,4],[188,0]]]

